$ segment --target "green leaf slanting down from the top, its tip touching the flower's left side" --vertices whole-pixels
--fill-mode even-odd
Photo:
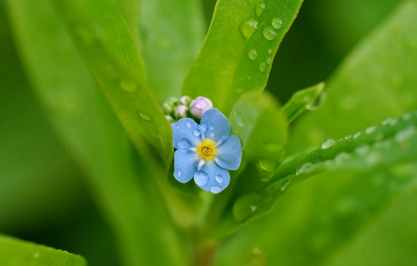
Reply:
[[[146,84],[136,43],[112,0],[51,0],[139,153],[172,161],[172,131]],[[97,8],[100,6],[100,8]]]

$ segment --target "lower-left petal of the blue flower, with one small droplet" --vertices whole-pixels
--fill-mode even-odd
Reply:
[[[197,172],[197,154],[188,149],[176,150],[174,153],[174,177],[181,183],[187,183]]]

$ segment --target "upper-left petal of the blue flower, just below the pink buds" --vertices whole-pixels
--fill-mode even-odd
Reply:
[[[171,124],[173,146],[176,149],[196,147],[201,143],[201,131],[196,121],[191,118],[181,118]],[[198,130],[198,131],[196,131]],[[188,141],[188,142],[187,142]],[[178,145],[178,143],[180,145]]]

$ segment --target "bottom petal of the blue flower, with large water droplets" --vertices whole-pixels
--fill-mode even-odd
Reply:
[[[195,173],[194,181],[201,189],[217,194],[229,186],[230,174],[227,169],[221,168],[214,161],[209,161]]]

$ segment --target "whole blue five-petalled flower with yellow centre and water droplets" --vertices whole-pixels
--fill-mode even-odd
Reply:
[[[206,110],[198,125],[191,118],[171,124],[174,177],[181,183],[194,178],[206,191],[219,193],[230,183],[229,170],[237,170],[242,159],[240,140],[230,135],[226,116],[213,108]]]

